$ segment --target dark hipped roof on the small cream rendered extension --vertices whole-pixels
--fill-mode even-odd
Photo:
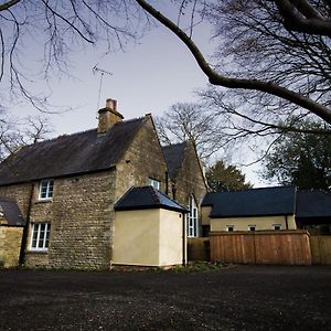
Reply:
[[[186,212],[182,205],[152,186],[131,188],[115,204],[116,211],[164,209]]]

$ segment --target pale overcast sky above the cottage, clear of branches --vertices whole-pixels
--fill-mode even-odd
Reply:
[[[210,35],[207,25],[194,30],[194,41],[205,55],[213,53]],[[50,117],[53,136],[95,128],[97,110],[105,107],[107,98],[117,99],[118,111],[126,119],[147,113],[158,116],[178,102],[196,100],[194,89],[207,84],[191,53],[162,26],[148,32],[139,44],[128,45],[125,53],[103,55],[100,50],[86,49],[75,52],[73,61],[72,77],[51,81],[53,104],[75,109]],[[104,74],[102,86],[102,75],[93,72],[94,66],[110,73]],[[20,114],[36,114],[36,110],[26,105]],[[236,161],[245,162],[245,153]],[[256,186],[261,185],[253,168],[243,167],[242,171]]]

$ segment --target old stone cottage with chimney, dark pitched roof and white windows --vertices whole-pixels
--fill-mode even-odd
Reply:
[[[172,186],[184,206],[192,196],[197,205],[206,191],[190,149],[178,156],[188,170],[172,185],[151,115],[124,120],[113,99],[98,114],[97,129],[23,147],[0,164],[0,197],[15,202],[26,221],[21,263],[107,268],[114,204],[129,188],[152,185],[171,195]]]

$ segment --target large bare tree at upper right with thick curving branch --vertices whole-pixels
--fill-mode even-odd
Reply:
[[[224,55],[217,66],[206,61],[191,29],[186,33],[147,1],[137,2],[186,45],[212,85],[257,92],[255,98],[267,105],[277,103],[274,96],[331,122],[329,1],[179,1],[181,11],[191,4],[192,12],[207,17],[215,26],[218,58]],[[306,23],[298,20],[291,29],[287,23],[291,14]],[[306,33],[309,24],[314,24],[314,32]],[[228,62],[235,71],[228,71]]]

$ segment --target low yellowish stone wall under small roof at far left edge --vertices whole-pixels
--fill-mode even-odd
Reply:
[[[0,225],[0,265],[15,267],[19,265],[23,227]]]

